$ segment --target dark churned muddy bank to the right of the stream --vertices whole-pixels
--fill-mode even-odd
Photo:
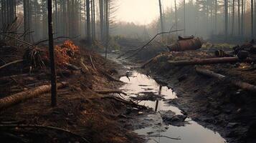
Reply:
[[[126,42],[128,43],[128,42]],[[141,44],[143,45],[143,44]],[[123,45],[127,52],[131,45]],[[140,45],[138,45],[139,47]],[[149,46],[131,58],[143,65],[148,59],[153,60],[141,69],[146,75],[174,90],[177,99],[166,102],[179,107],[194,121],[204,127],[219,132],[227,142],[255,142],[256,99],[254,92],[234,87],[229,80],[219,80],[196,73],[196,67],[210,69],[223,74],[230,80],[256,85],[256,71],[245,63],[209,64],[206,66],[171,66],[168,60],[202,59],[214,56],[214,51],[229,48],[202,48],[194,51],[166,51],[161,47]]]

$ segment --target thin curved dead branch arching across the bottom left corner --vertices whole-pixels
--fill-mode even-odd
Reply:
[[[72,134],[75,137],[79,137],[80,139],[82,139],[83,142],[87,142],[90,143],[89,141],[87,141],[87,139],[85,139],[84,137],[80,136],[79,134],[75,134],[74,132],[71,132],[70,130],[67,129],[62,129],[62,128],[58,128],[58,127],[51,127],[51,126],[44,126],[44,125],[37,125],[37,124],[0,124],[0,129],[4,129],[4,131],[6,131],[6,129],[9,128],[41,128],[41,129],[51,129],[51,130],[55,130],[58,132],[66,132],[68,134]]]

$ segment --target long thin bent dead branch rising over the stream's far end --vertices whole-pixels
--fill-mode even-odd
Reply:
[[[153,38],[152,38],[151,40],[149,40],[149,41],[148,41],[146,44],[144,44],[142,47],[137,48],[137,49],[132,49],[132,50],[129,50],[129,51],[125,51],[125,54],[128,54],[128,53],[130,53],[131,51],[135,51],[135,53],[133,53],[131,56],[126,57],[125,59],[129,59],[129,58],[135,56],[136,54],[138,54],[138,52],[142,51],[146,46],[148,46],[148,44],[150,44],[151,41],[153,41],[154,39],[156,39],[156,37],[157,37],[158,35],[161,35],[161,34],[170,34],[170,33],[176,32],[176,31],[183,31],[183,29],[174,30],[174,31],[163,31],[163,32],[161,32],[161,33],[156,34],[155,36],[153,36]],[[124,56],[125,54],[123,54],[122,56]],[[121,56],[118,56],[118,59],[119,59],[120,57],[121,57]]]

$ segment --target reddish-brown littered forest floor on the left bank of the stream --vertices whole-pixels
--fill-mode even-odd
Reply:
[[[1,141],[143,142],[128,123],[136,121],[138,112],[151,111],[113,98],[117,94],[96,93],[118,89],[123,84],[118,79],[124,76],[125,67],[82,48],[70,64],[81,68],[57,66],[57,82],[68,82],[67,87],[58,90],[57,107],[50,106],[48,93],[1,109]],[[49,84],[48,69],[32,69],[31,74],[25,74],[29,71],[19,70],[23,66],[18,63],[1,69],[1,99]],[[13,74],[18,76],[6,78]]]

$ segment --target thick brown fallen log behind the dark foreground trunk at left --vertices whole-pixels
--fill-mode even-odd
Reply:
[[[61,89],[67,86],[67,82],[61,82],[57,84],[57,88]],[[44,94],[50,92],[51,85],[43,85],[40,87],[36,87],[35,89],[27,90],[25,92],[19,92],[17,94],[13,94],[9,97],[4,97],[0,99],[0,109],[10,107],[11,105],[18,104],[19,102],[23,102],[24,100],[38,97],[40,94]]]

